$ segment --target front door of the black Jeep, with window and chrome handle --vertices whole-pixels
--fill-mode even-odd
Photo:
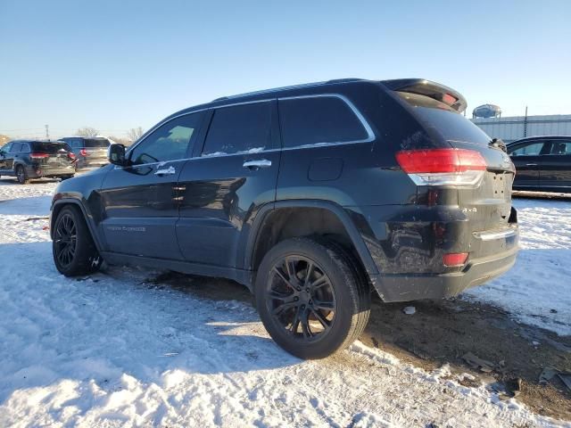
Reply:
[[[128,166],[103,180],[103,234],[109,251],[182,259],[175,235],[177,181],[197,139],[203,113],[162,124],[127,153]]]

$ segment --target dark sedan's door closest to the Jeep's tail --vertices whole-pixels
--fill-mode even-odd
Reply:
[[[508,148],[509,157],[516,166],[514,188],[525,190],[540,186],[540,167],[545,141],[534,140],[513,144]]]

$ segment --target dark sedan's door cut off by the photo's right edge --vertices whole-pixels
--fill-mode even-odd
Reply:
[[[547,140],[539,163],[540,186],[551,191],[571,188],[571,138]]]

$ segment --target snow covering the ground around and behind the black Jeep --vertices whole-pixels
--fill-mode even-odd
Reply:
[[[64,278],[45,230],[54,186],[0,181],[0,426],[571,426],[360,342],[301,361],[250,305],[156,287],[151,271]],[[569,289],[552,290],[568,287],[571,204],[517,206],[522,257],[473,295],[565,333]]]

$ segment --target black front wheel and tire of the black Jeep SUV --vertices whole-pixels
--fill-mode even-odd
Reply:
[[[64,276],[92,274],[101,268],[103,259],[79,208],[68,205],[58,213],[52,253],[55,268]]]

